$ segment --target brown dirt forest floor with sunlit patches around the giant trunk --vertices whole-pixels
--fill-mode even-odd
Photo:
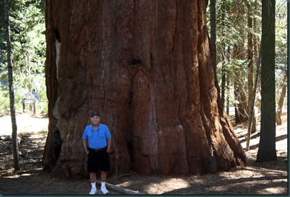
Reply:
[[[259,123],[259,119],[257,120]],[[47,117],[29,113],[16,115],[20,137],[21,170],[14,171],[11,141],[11,119],[0,115],[0,194],[88,194],[90,181],[64,180],[42,172],[42,153],[47,137]],[[234,125],[241,145],[246,147],[247,125]],[[248,166],[227,172],[198,176],[140,176],[134,172],[114,175],[107,183],[142,194],[288,194],[287,181],[287,114],[276,127],[278,160],[255,163],[259,146],[259,125],[252,134]],[[99,186],[99,185],[98,185]],[[97,187],[98,188],[98,187]],[[109,194],[124,194],[108,187]],[[98,194],[101,192],[98,190]]]

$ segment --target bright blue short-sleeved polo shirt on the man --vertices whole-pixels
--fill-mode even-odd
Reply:
[[[99,124],[94,130],[92,124],[85,127],[83,140],[88,140],[91,149],[102,149],[107,147],[107,139],[111,138],[107,125]]]

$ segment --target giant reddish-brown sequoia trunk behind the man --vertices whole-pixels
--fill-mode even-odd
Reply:
[[[92,111],[111,173],[202,175],[245,165],[220,102],[207,1],[47,0],[49,135],[43,167],[82,177]]]

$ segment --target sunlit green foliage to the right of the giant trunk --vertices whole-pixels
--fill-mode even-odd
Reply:
[[[251,5],[252,20],[256,22],[256,28],[248,28],[248,8],[244,1],[217,0],[216,1],[216,45],[217,45],[217,74],[218,82],[222,83],[222,69],[230,78],[230,91],[226,91],[226,97],[233,105],[239,101],[235,100],[233,85],[248,81],[248,57],[247,57],[247,35],[252,33],[261,41],[261,0],[248,1]],[[208,7],[209,8],[209,7]],[[207,14],[209,23],[209,12]],[[254,25],[254,24],[253,24]],[[208,24],[207,27],[210,28]],[[258,49],[259,50],[259,49]],[[254,70],[256,69],[258,54],[254,54]],[[280,97],[282,88],[282,76],[287,67],[287,1],[276,0],[276,64],[280,65],[276,70],[276,103]],[[237,75],[239,72],[239,75]],[[241,72],[243,72],[242,75]],[[259,92],[256,95],[259,97]],[[287,106],[287,101],[285,102]],[[260,108],[257,103],[257,108]]]

